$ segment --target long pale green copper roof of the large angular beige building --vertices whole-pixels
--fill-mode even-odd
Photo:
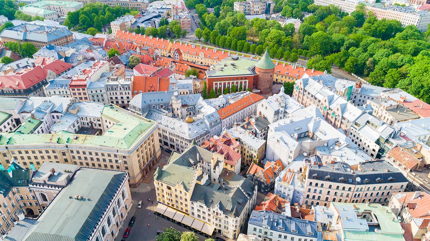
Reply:
[[[14,133],[0,133],[0,146],[59,143],[129,149],[156,125],[156,122],[136,116],[120,107],[105,106],[101,115],[116,122],[101,136],[74,134],[68,131],[58,131],[54,134],[25,134],[28,128],[21,130],[20,127]]]

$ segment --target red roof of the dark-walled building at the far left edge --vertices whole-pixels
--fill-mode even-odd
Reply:
[[[23,69],[18,72],[13,71],[0,78],[0,89],[5,87],[11,89],[27,89],[31,86],[38,84],[46,79],[47,70],[40,66],[34,69]]]

